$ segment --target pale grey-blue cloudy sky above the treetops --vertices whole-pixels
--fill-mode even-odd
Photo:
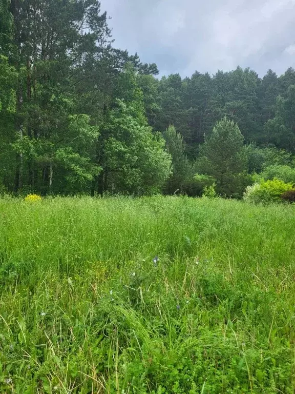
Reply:
[[[295,68],[295,0],[101,0],[115,46],[160,75]]]

